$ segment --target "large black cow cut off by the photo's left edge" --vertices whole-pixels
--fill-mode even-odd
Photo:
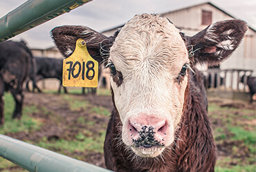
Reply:
[[[24,95],[22,85],[28,75],[33,55],[26,44],[15,41],[0,43],[0,125],[4,122],[3,93],[10,90],[15,99],[15,111],[12,118],[21,118]]]

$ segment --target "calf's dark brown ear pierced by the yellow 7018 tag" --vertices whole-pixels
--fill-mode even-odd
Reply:
[[[85,26],[60,26],[51,30],[51,37],[64,57],[69,57],[73,53],[77,39],[82,38],[86,42],[89,54],[97,61],[102,61],[102,57],[109,54],[109,48],[116,35],[106,37]]]

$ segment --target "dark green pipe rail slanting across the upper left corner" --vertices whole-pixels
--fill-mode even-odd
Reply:
[[[5,41],[91,0],[28,0],[0,19],[0,41]]]

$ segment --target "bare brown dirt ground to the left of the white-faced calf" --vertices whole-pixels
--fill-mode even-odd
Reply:
[[[107,108],[110,112],[113,107],[112,100],[110,96],[94,96],[94,95],[72,95],[73,99],[82,99],[84,101],[89,101],[93,106],[100,106]],[[83,111],[82,108],[71,110],[68,106],[68,102],[66,99],[59,94],[47,94],[47,93],[28,93],[25,92],[24,106],[37,106],[47,111],[54,113],[54,115],[58,115],[60,117],[55,117],[56,120],[52,120],[50,115],[45,115],[44,113],[33,113],[33,117],[37,117],[39,120],[43,122],[43,126],[40,130],[34,131],[33,133],[27,132],[19,132],[19,133],[8,133],[6,135],[16,138],[18,140],[30,140],[33,142],[37,142],[38,140],[42,140],[42,137],[46,137],[47,140],[72,140],[75,135],[80,131],[77,128],[82,128],[85,130],[90,130],[92,133],[97,133],[93,130],[97,128],[101,128],[102,124],[106,124],[109,120],[109,117],[102,117],[102,115],[97,115],[95,113],[88,113]],[[79,117],[86,116],[87,120],[95,121],[94,127],[86,128],[85,126],[77,126],[77,119]],[[52,150],[55,151],[55,150]],[[57,150],[56,150],[57,151]],[[76,152],[75,152],[76,153]],[[72,155],[66,153],[68,156],[75,156],[75,153]],[[77,152],[79,156],[81,156],[81,152]],[[84,153],[85,162],[90,164],[95,164],[97,166],[104,167],[104,157],[102,153],[94,153],[90,151],[86,151]]]

